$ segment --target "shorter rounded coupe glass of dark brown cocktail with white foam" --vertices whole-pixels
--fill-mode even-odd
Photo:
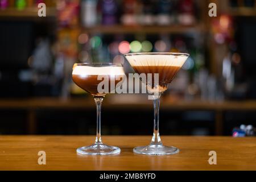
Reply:
[[[125,76],[122,64],[117,63],[75,63],[73,66],[72,78],[80,88],[92,94],[97,107],[97,133],[95,143],[91,146],[77,148],[77,153],[82,155],[109,155],[119,154],[120,148],[108,146],[101,140],[101,103],[106,92],[98,90],[98,85],[105,78],[108,79],[110,93],[113,89],[110,84],[114,82],[116,86],[118,79]],[[115,88],[114,86],[114,88]],[[106,88],[105,88],[106,89]]]

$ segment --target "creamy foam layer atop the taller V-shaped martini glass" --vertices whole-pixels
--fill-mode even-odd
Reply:
[[[186,55],[135,54],[127,55],[126,59],[132,67],[139,66],[174,66],[182,67],[187,60]]]

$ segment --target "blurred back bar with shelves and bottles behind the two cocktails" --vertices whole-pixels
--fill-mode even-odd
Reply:
[[[161,100],[162,135],[256,125],[255,0],[0,0],[0,52],[0,134],[94,135],[96,106],[73,83],[73,64],[122,63],[133,73],[128,52],[191,55]],[[107,95],[102,134],[151,135],[151,102]]]

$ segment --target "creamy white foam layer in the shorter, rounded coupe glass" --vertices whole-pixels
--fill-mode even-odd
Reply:
[[[77,65],[72,75],[125,75],[123,67],[87,67]]]

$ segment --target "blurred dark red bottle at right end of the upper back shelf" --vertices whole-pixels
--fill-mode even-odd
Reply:
[[[178,3],[178,16],[180,24],[189,25],[195,23],[195,8],[193,0],[180,0]]]

